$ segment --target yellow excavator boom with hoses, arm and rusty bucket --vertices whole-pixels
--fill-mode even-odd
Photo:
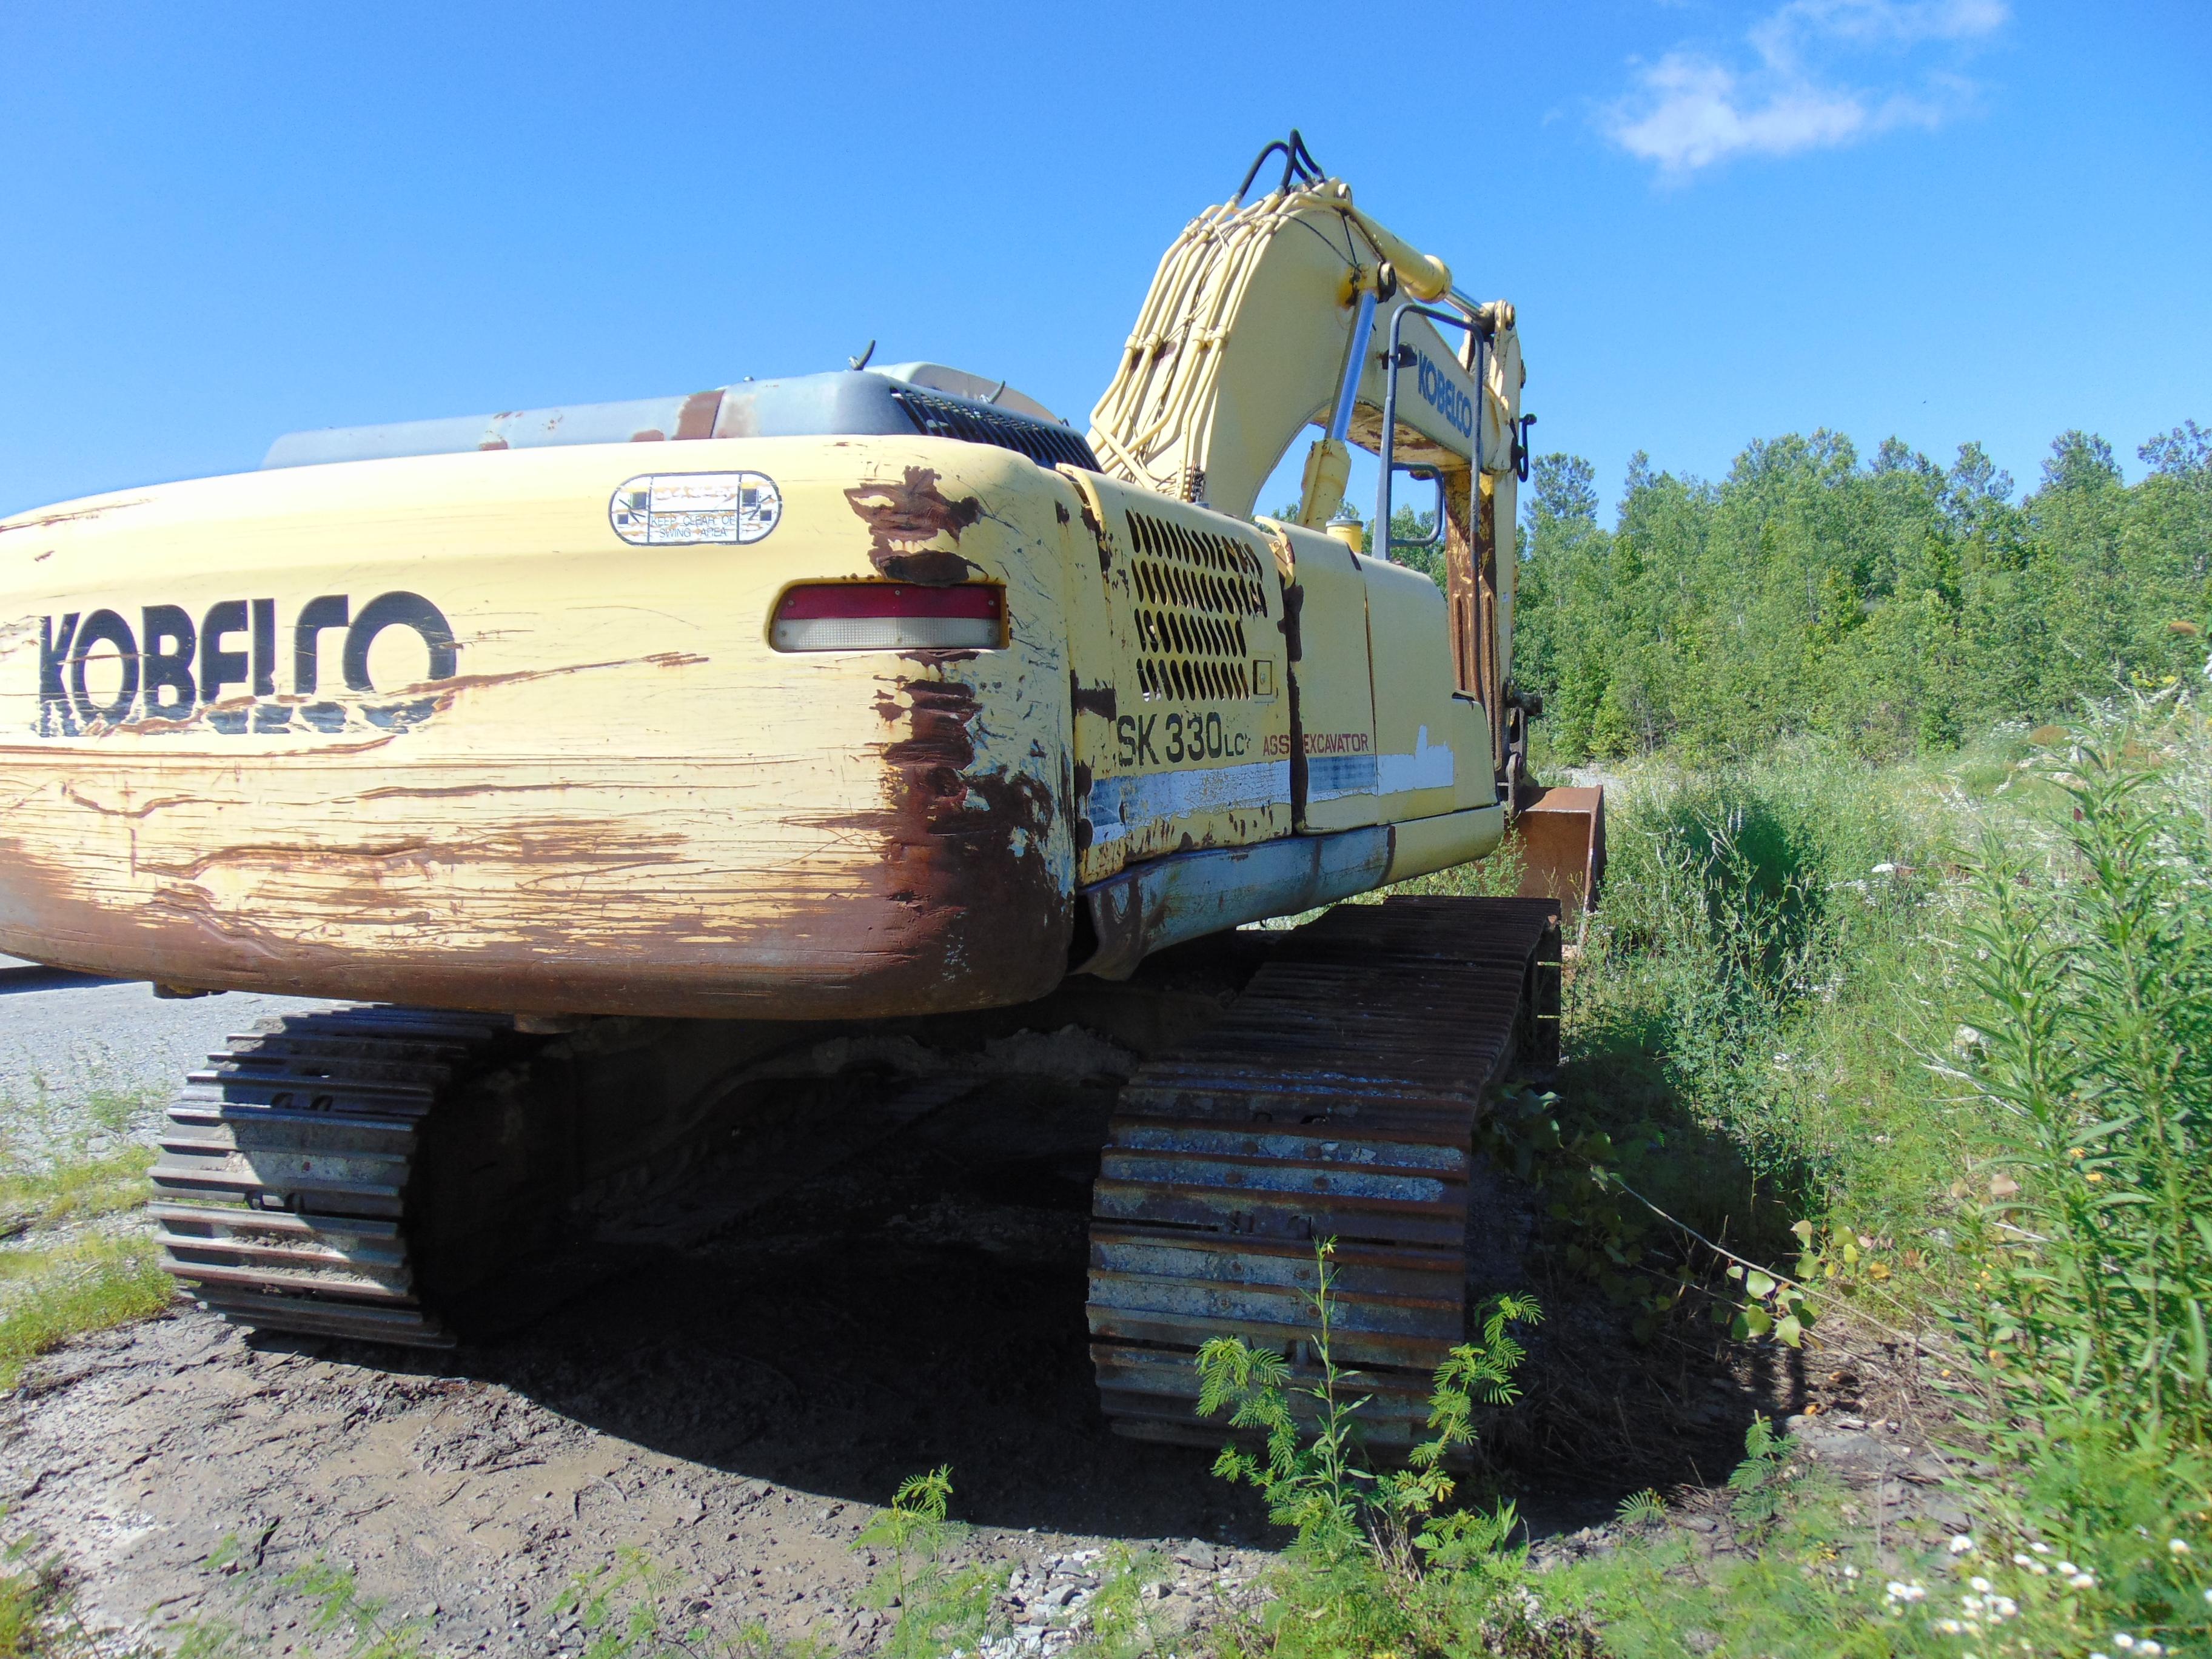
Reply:
[[[1281,184],[1245,201],[1276,153]],[[1376,540],[1402,500],[1398,473],[1433,478],[1453,668],[1491,723],[1524,889],[1579,911],[1604,869],[1604,794],[1555,792],[1542,821],[1517,825],[1540,794],[1526,781],[1533,703],[1511,686],[1524,378],[1513,305],[1460,294],[1444,261],[1354,206],[1292,133],[1161,257],[1091,414],[1091,449],[1130,482],[1250,515],[1298,434],[1318,427],[1294,520],[1318,529],[1338,513],[1358,445],[1380,460]]]

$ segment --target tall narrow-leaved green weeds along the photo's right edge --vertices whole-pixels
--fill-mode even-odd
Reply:
[[[2183,717],[2042,763],[1978,860],[1944,1071],[1980,1113],[1949,1307],[1991,1498],[2137,1628],[2212,1635],[2212,765]]]

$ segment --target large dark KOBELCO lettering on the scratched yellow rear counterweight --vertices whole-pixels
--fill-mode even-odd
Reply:
[[[71,611],[40,617],[38,732],[75,737],[86,726],[170,730],[204,717],[217,732],[288,732],[294,714],[316,732],[345,730],[358,712],[369,726],[407,728],[429,719],[434,697],[365,703],[374,695],[369,646],[385,628],[411,628],[429,650],[418,679],[451,679],[458,664],[453,628],[420,593],[378,593],[361,611],[343,593],[307,599],[292,617],[290,697],[276,692],[276,602],[217,599],[197,619],[179,604],[148,604],[137,628],[122,611]],[[345,703],[310,701],[323,690],[323,635],[336,644]],[[88,670],[100,672],[97,688]]]

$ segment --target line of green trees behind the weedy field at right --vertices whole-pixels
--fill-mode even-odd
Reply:
[[[1869,462],[1814,431],[1754,442],[1719,482],[1628,467],[1615,526],[1590,462],[1533,467],[1515,679],[1562,761],[1743,754],[1820,734],[1869,759],[1958,745],[2130,688],[2205,686],[2212,431],[2139,451],[2068,431],[2042,480],[1980,445]]]

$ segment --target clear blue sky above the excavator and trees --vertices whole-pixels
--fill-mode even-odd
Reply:
[[[1294,124],[1517,303],[1537,447],[1608,502],[1637,449],[1975,438],[2026,487],[2066,427],[2137,476],[2212,422],[2203,0],[1374,15],[11,0],[0,511],[869,338],[1079,425]]]

